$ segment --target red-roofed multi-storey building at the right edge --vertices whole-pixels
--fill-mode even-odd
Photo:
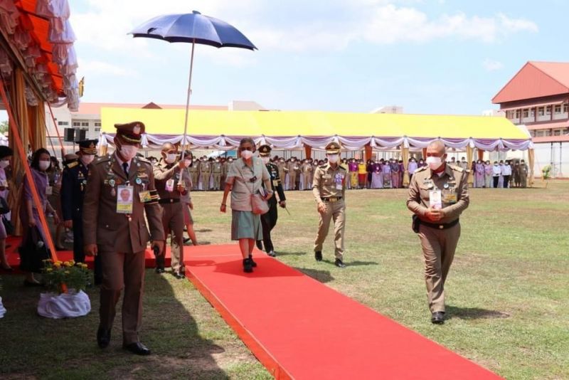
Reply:
[[[492,99],[536,145],[536,173],[569,173],[569,63],[530,61]]]

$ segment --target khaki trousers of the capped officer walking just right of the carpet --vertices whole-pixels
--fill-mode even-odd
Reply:
[[[346,204],[344,199],[336,202],[324,202],[326,211],[320,214],[318,234],[314,241],[314,252],[322,250],[322,243],[326,240],[330,221],[334,220],[334,256],[342,260],[344,257],[344,228],[346,227]]]

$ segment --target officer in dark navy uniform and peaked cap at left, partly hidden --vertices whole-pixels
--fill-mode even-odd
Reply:
[[[73,228],[73,260],[85,263],[83,250],[83,196],[89,176],[89,164],[97,154],[97,140],[77,142],[79,152],[75,159],[65,159],[61,179],[61,212],[65,228]],[[66,156],[66,158],[68,158]],[[70,158],[70,157],[69,157]],[[95,257],[95,284],[101,283],[100,258]]]

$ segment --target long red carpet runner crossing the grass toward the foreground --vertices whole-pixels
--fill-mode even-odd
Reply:
[[[246,274],[236,244],[186,252],[188,278],[277,379],[499,379],[264,253]]]

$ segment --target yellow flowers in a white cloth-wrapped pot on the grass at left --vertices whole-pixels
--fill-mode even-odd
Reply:
[[[90,282],[85,263],[44,260],[43,280],[50,292],[41,293],[38,314],[49,318],[70,318],[91,311],[89,296],[83,291]]]

